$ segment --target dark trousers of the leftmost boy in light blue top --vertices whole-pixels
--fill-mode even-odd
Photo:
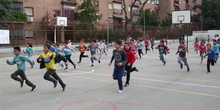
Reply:
[[[21,78],[19,78],[18,75],[19,75]],[[16,80],[16,81],[19,81],[19,82],[21,82],[22,80],[25,80],[25,83],[26,83],[28,86],[30,86],[30,87],[33,87],[33,86],[34,86],[34,84],[31,83],[31,82],[27,79],[27,77],[26,77],[24,71],[21,71],[21,70],[15,71],[14,73],[11,74],[11,78],[14,79],[14,80]]]

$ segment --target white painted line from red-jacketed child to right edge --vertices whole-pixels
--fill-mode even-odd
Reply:
[[[191,79],[191,78],[178,78],[178,77],[172,77],[172,76],[150,75],[150,74],[143,74],[143,73],[134,73],[134,74],[139,74],[139,75],[144,75],[144,76],[155,76],[155,77],[163,77],[163,78],[172,78],[172,79],[184,79],[184,80],[199,81],[199,82],[220,83],[218,81],[209,81],[209,80],[200,80],[200,79]]]

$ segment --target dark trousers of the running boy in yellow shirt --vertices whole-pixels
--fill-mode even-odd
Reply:
[[[53,76],[53,78],[51,76]],[[58,80],[61,86],[65,85],[61,80],[61,78],[57,75],[56,70],[53,69],[47,70],[47,72],[44,74],[44,79],[51,81],[53,83],[56,82],[56,80]]]

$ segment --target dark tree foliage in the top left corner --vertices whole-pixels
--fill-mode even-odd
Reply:
[[[0,19],[6,20],[10,18],[11,1],[0,0]]]

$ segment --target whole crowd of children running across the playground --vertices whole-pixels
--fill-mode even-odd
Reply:
[[[123,43],[123,41],[121,40],[115,42],[115,50],[113,50],[113,55],[111,57],[109,66],[111,66],[113,60],[115,60],[113,79],[118,81],[118,93],[122,93],[124,91],[124,87],[127,87],[129,85],[130,73],[133,71],[138,72],[137,68],[133,67],[133,64],[137,58],[141,58],[141,55],[144,54],[142,52],[142,49],[145,48],[146,53],[147,51],[149,51],[149,44],[151,44],[151,48],[153,50],[154,42],[149,41],[147,39],[144,42],[142,42],[142,40],[140,39],[138,39],[137,41],[135,41],[134,39],[129,39],[129,42],[127,41],[125,43]],[[160,44],[155,47],[155,49],[159,50],[159,58],[164,65],[166,64],[164,55],[166,55],[170,50],[166,44],[167,43],[165,40],[161,40]],[[214,65],[218,60],[220,52],[220,39],[218,39],[218,41],[213,40],[213,46],[210,43],[205,45],[204,40],[202,40],[201,43],[198,44],[198,39],[195,40],[195,43],[193,45],[196,53],[200,51],[200,63],[202,63],[203,58],[208,56],[207,72],[209,73],[210,65]],[[13,78],[16,81],[19,81],[21,87],[23,87],[23,84],[26,83],[28,86],[32,87],[31,91],[34,91],[37,86],[30,82],[25,75],[25,61],[29,62],[31,67],[33,67],[34,65],[34,61],[31,60],[31,56],[34,53],[34,50],[30,43],[27,43],[26,46],[27,48],[26,51],[24,51],[24,53],[28,54],[29,58],[21,54],[20,47],[14,47],[15,57],[13,61],[6,60],[6,62],[9,65],[17,64],[17,71],[11,74],[11,78]],[[78,63],[81,63],[83,57],[89,58],[89,56],[84,55],[84,53],[86,51],[90,51],[92,63],[91,66],[94,66],[94,60],[97,60],[100,63],[101,56],[103,54],[107,55],[107,46],[106,43],[103,41],[97,42],[97,40],[92,40],[90,45],[86,46],[84,40],[81,40],[78,49],[80,51]],[[71,60],[71,54],[72,52],[75,52],[75,47],[70,41],[65,42],[64,47],[62,49],[59,48],[59,44],[57,43],[52,45],[50,42],[47,42],[47,44],[44,45],[43,50],[44,52],[40,54],[39,58],[37,59],[37,62],[40,63],[41,69],[47,69],[46,73],[44,74],[44,79],[51,81],[54,85],[54,88],[57,86],[57,83],[59,81],[62,90],[64,91],[66,88],[66,84],[57,75],[55,63],[60,62],[62,60],[65,63],[65,69],[68,69],[67,61],[69,61],[74,66],[74,68],[76,68],[76,64]],[[187,71],[190,71],[189,64],[187,63],[186,52],[189,51],[184,41],[180,41],[176,52],[176,54],[179,54],[178,63],[180,64],[181,69],[183,68],[184,63],[184,65],[187,67]],[[136,55],[137,53],[139,57]],[[98,55],[99,57],[97,58]],[[19,78],[18,76],[20,76],[21,78]],[[123,76],[126,76],[126,82],[124,86],[122,82]]]

